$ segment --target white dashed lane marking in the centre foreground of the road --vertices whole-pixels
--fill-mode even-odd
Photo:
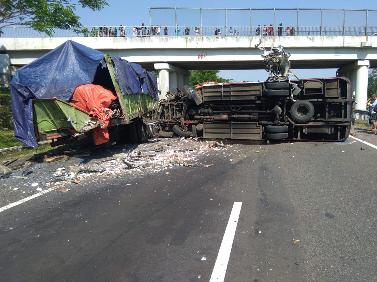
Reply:
[[[215,267],[213,267],[210,282],[224,282],[225,273],[227,272],[230,252],[233,245],[234,234],[236,233],[238,217],[241,212],[242,202],[234,202],[232,211],[230,213],[227,228],[225,229],[224,237],[222,238],[221,246]]]

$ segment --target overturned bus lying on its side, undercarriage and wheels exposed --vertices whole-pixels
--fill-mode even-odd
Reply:
[[[184,86],[159,101],[153,116],[159,135],[344,141],[353,121],[349,80],[300,80],[282,46],[261,50],[267,81]]]

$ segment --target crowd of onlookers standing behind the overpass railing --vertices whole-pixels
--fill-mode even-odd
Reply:
[[[294,27],[287,26],[286,29],[284,29],[285,35],[296,35],[296,30]],[[164,32],[164,36],[168,36],[168,27],[165,26],[162,28],[162,26],[159,26],[158,24],[156,26],[145,26],[144,23],[141,24],[141,26],[134,26],[132,29],[132,35],[133,37],[148,37],[148,36],[161,36],[161,32]],[[174,29],[174,33],[176,36],[180,35],[181,30],[179,29],[179,26],[176,26]],[[191,31],[192,32],[192,31]],[[200,27],[195,27],[194,29],[195,35],[200,36],[201,30]],[[208,33],[208,32],[206,32]],[[245,33],[245,35],[248,32],[241,32]],[[229,29],[229,36],[236,36],[239,35],[239,31],[233,30],[232,27]],[[104,36],[104,37],[117,37],[117,36],[126,36],[124,27],[120,25],[119,27],[110,27],[107,26],[100,26],[98,27],[98,35]],[[182,31],[182,35],[188,36],[190,35],[190,29],[186,26],[185,30]],[[219,28],[215,29],[215,36],[221,36],[222,31]],[[226,33],[225,33],[226,35]],[[273,24],[270,24],[270,26],[264,25],[261,27],[260,25],[256,27],[255,29],[255,35],[276,35],[276,30],[274,30]],[[279,24],[277,27],[277,35],[283,35],[283,25],[282,23]]]

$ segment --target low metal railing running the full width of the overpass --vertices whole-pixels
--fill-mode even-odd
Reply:
[[[216,29],[220,30],[217,36],[256,36],[257,26],[198,26],[199,33],[195,32],[195,26],[178,26],[179,34],[176,33],[175,26],[161,26],[159,35],[156,34],[155,27],[147,26],[145,36],[165,36],[164,29],[167,28],[167,36],[216,36]],[[186,27],[190,30],[186,32]],[[269,26],[267,26],[268,28]],[[73,29],[53,29],[52,37],[134,37],[134,26],[123,26],[124,35],[121,35],[120,26],[107,27],[107,32],[103,26],[87,26],[88,32],[76,33]],[[116,29],[116,33],[113,31]],[[139,29],[139,34],[137,30]],[[230,33],[231,29],[231,33]],[[287,27],[282,26],[282,36],[287,35]],[[279,36],[279,26],[273,26],[274,36]],[[290,26],[292,30],[292,26]],[[38,32],[25,26],[3,27],[1,38],[44,38],[49,37],[46,33]],[[149,33],[148,33],[149,31]],[[106,34],[107,33],[107,34]],[[187,35],[186,35],[187,33]],[[263,26],[260,26],[260,33],[263,35]],[[268,35],[268,34],[267,34]],[[377,36],[377,26],[294,26],[294,34],[299,36]],[[144,37],[141,27],[136,27],[136,37]]]

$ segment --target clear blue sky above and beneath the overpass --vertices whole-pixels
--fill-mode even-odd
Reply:
[[[309,8],[309,9],[372,9],[377,10],[377,0],[317,0],[317,1],[208,1],[199,2],[187,1],[178,2],[172,0],[166,1],[124,1],[124,0],[108,0],[110,7],[104,8],[102,11],[93,12],[90,9],[77,8],[77,15],[81,17],[81,23],[84,26],[134,26],[140,25],[141,22],[149,25],[149,7],[167,7],[167,8]],[[197,4],[196,4],[197,3]],[[215,3],[215,4],[214,4]],[[269,6],[273,4],[274,6]],[[246,14],[244,14],[246,13]],[[152,24],[162,26],[175,25],[174,10],[152,10]],[[241,15],[241,16],[240,16]],[[245,16],[243,16],[245,15]],[[200,23],[200,14],[198,11],[181,10],[177,12],[177,22],[180,26],[196,26]],[[360,18],[364,19],[362,12],[352,12],[346,14],[346,24],[351,26],[362,26],[365,22],[360,23]],[[205,11],[202,14],[204,26],[225,26],[225,16],[223,11]],[[248,26],[250,18],[248,12],[228,11],[227,26],[231,23],[234,26]],[[294,11],[286,11],[276,13],[276,23],[283,23],[283,26],[293,26],[297,24],[297,16]],[[268,25],[273,23],[273,13],[267,12],[258,15],[252,14],[252,25]],[[300,14],[299,24],[302,26],[318,26],[320,24],[320,14],[311,15]],[[342,25],[343,12],[324,12],[323,25]],[[377,12],[369,15],[368,25],[377,26]],[[310,77],[332,77],[335,76],[335,69],[316,69],[316,70],[293,70],[300,78]],[[264,70],[222,70],[219,74],[224,78],[233,78],[237,81],[242,80],[265,80],[267,72]]]

